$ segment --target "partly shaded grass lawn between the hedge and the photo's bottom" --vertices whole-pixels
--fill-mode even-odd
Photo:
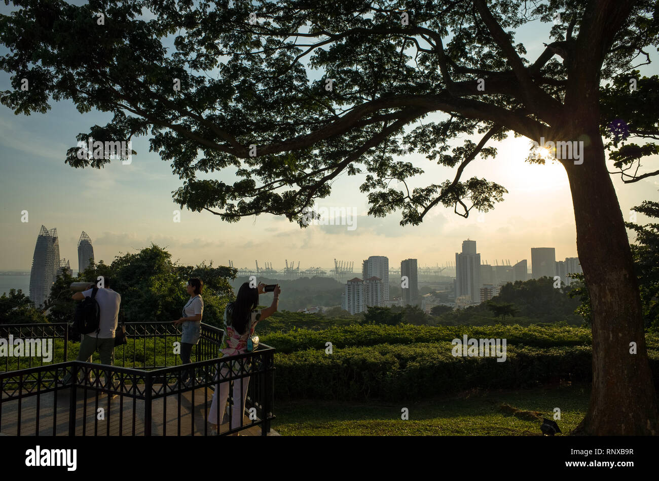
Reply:
[[[277,401],[272,428],[282,436],[540,436],[542,419],[514,412],[539,411],[556,420],[563,435],[581,422],[588,408],[589,384],[530,390],[474,390],[417,403],[339,403]],[[401,420],[401,409],[409,420]],[[506,412],[504,412],[506,411]],[[561,436],[560,434],[558,436]]]

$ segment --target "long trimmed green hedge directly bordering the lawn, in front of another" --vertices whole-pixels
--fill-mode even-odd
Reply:
[[[349,401],[418,399],[472,388],[509,389],[559,379],[592,380],[589,346],[538,348],[507,345],[507,359],[453,357],[450,342],[307,349],[275,354],[277,399]],[[659,380],[659,353],[649,351]]]

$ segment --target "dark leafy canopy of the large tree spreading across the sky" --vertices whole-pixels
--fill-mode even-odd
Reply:
[[[173,193],[182,206],[229,222],[273,213],[302,226],[304,209],[342,172],[366,174],[369,214],[401,209],[401,224],[418,224],[438,204],[463,216],[492,209],[505,188],[461,178],[478,155],[496,155],[488,140],[509,131],[561,138],[570,70],[592,70],[597,88],[598,78],[617,78],[607,90],[615,99],[618,87],[629,89],[619,75],[658,32],[650,0],[600,5],[610,24],[597,32],[588,22],[598,3],[585,0],[13,3],[22,8],[0,18],[0,41],[11,49],[0,68],[13,74],[4,105],[45,113],[52,97],[81,113],[111,113],[78,140],[150,134],[150,149],[183,179]],[[554,22],[551,41],[527,59],[515,30],[538,19]],[[596,39],[603,51],[588,51]],[[639,94],[652,95],[648,82],[639,81]],[[434,112],[444,116],[431,120]],[[656,130],[646,127],[635,132]],[[482,137],[451,147],[471,134]],[[69,149],[67,163],[110,161],[80,159],[79,150]],[[457,166],[455,178],[410,189],[423,170],[399,160],[405,151]],[[231,166],[233,184],[206,175]]]

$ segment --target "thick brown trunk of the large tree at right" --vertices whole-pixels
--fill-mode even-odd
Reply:
[[[592,393],[572,434],[659,434],[641,297],[623,215],[605,163],[597,112],[567,120],[584,140],[582,165],[563,161],[572,191],[577,251],[592,307]],[[565,138],[568,140],[569,138]],[[630,353],[636,343],[636,353]]]

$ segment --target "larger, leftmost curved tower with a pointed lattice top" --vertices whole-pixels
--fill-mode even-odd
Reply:
[[[47,230],[41,226],[32,256],[30,272],[30,299],[34,305],[43,305],[48,298],[59,270],[59,240],[57,229]]]

